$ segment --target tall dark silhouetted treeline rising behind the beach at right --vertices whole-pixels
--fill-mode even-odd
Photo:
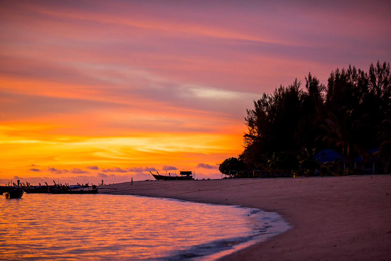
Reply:
[[[371,157],[370,148],[386,148],[391,119],[390,65],[377,62],[369,72],[350,66],[330,73],[327,85],[308,73],[305,88],[296,79],[273,94],[262,95],[247,109],[245,124],[251,145],[239,156],[248,169],[270,168],[276,152],[313,161],[314,154],[332,148],[352,159]],[[275,154],[276,155],[276,154]],[[313,164],[312,164],[313,165]]]

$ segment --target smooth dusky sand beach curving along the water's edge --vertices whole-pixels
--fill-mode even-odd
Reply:
[[[224,261],[391,260],[391,175],[136,181],[100,188],[258,208],[279,213],[293,227]]]

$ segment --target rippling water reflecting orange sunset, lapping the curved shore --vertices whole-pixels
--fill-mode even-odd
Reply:
[[[289,229],[258,209],[130,195],[24,194],[0,206],[2,260],[207,260]]]

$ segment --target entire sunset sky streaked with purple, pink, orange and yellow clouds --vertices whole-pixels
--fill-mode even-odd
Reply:
[[[386,1],[0,1],[0,185],[221,178],[264,92],[389,62],[390,14]]]

